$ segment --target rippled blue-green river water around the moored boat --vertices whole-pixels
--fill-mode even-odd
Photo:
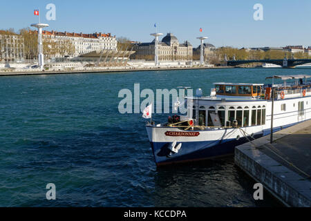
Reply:
[[[278,206],[233,157],[157,169],[141,114],[120,114],[122,88],[265,82],[310,69],[233,68],[0,77],[0,206]],[[164,115],[153,115],[162,122]],[[57,200],[46,200],[46,184]]]

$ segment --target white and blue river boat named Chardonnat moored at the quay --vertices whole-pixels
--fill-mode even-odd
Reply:
[[[186,97],[187,115],[147,124],[157,166],[234,153],[234,147],[311,119],[311,75],[273,76],[292,84],[214,83],[207,97]]]

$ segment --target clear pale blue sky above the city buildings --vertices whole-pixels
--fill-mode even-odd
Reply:
[[[46,5],[56,6],[56,20],[46,20]],[[263,5],[263,21],[255,21],[255,3]],[[25,28],[38,21],[40,9],[46,30],[111,32],[133,41],[151,41],[151,32],[172,32],[180,42],[198,46],[207,36],[215,46],[311,46],[310,0],[218,0],[218,1],[105,1],[105,0],[1,0],[0,29]],[[202,28],[202,33],[199,31]]]

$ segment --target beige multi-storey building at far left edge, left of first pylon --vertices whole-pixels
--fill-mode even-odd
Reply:
[[[0,61],[23,61],[24,42],[21,35],[0,31]]]

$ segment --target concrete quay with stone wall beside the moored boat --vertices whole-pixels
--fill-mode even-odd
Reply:
[[[285,206],[311,206],[311,119],[236,146],[235,164]],[[264,197],[265,198],[265,197]]]

